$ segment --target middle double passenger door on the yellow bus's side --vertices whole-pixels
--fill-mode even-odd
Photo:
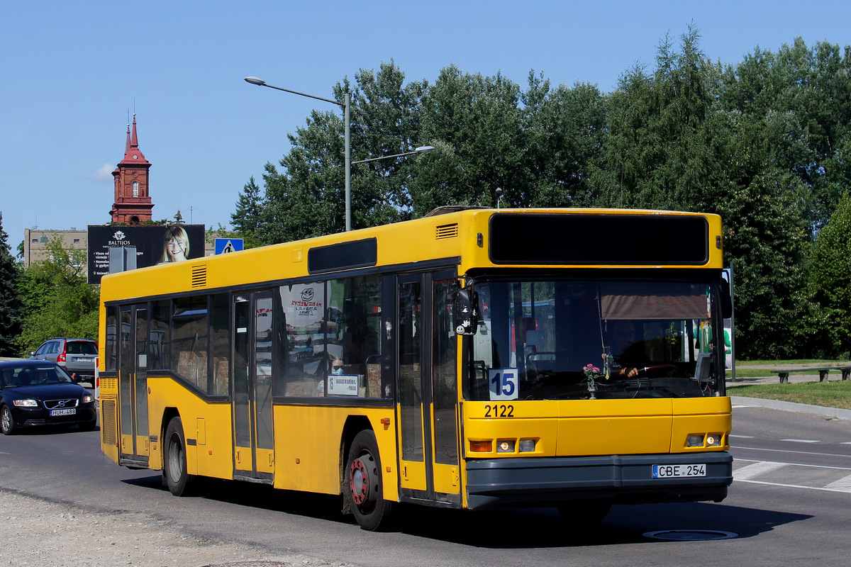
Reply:
[[[233,478],[271,484],[272,431],[271,292],[233,298]]]

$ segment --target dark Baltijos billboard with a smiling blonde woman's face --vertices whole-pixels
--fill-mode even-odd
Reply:
[[[203,224],[89,225],[90,284],[106,274],[203,255]]]

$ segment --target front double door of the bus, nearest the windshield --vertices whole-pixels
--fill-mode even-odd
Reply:
[[[460,502],[452,271],[397,280],[397,392],[402,496]]]

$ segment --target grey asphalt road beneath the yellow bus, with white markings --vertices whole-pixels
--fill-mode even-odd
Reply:
[[[237,482],[208,481],[197,496],[176,498],[162,488],[159,473],[117,467],[100,453],[98,431],[76,429],[0,436],[0,490],[71,502],[91,513],[140,513],[169,529],[235,541],[259,555],[300,553],[329,564],[848,564],[851,422],[736,407],[734,434],[737,479],[724,502],[618,506],[582,532],[569,530],[554,509],[412,507],[401,511],[396,530],[369,533],[340,516],[334,497]],[[667,541],[646,535],[660,530],[735,536]]]

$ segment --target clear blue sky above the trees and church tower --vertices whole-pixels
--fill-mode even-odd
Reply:
[[[110,172],[128,112],[151,162],[153,217],[229,226],[239,191],[312,108],[359,69],[395,60],[408,80],[443,67],[526,84],[616,86],[652,68],[665,34],[694,23],[712,60],[851,43],[848,0],[791,2],[44,2],[0,0],[0,211],[13,248],[24,229],[109,222]],[[427,143],[425,140],[423,143]]]

